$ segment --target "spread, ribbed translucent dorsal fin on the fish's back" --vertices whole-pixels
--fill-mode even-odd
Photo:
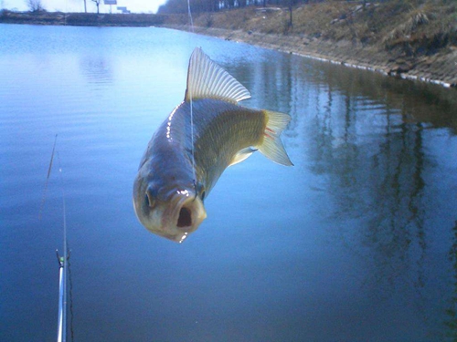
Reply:
[[[196,47],[189,60],[185,100],[197,98],[218,98],[236,103],[250,98],[250,92]]]

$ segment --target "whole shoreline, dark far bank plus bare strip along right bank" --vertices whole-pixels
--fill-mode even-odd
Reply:
[[[305,34],[269,34],[253,28],[220,28],[186,24],[179,15],[120,15],[81,13],[14,13],[0,12],[0,24],[51,26],[156,26],[220,39],[239,41],[256,47],[278,50],[302,57],[327,61],[345,67],[355,67],[386,76],[418,80],[457,88],[457,45],[450,44],[433,50],[429,47],[420,55],[406,54],[401,47],[386,48],[346,39],[329,39]]]

